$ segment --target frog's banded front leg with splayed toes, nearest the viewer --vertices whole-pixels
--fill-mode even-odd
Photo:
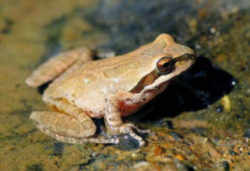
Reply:
[[[129,94],[127,95],[129,96]],[[141,130],[132,123],[123,123],[119,102],[120,100],[117,100],[115,97],[106,100],[107,108],[104,115],[104,121],[108,133],[111,135],[129,134],[139,142],[139,146],[143,146],[145,141],[142,137],[137,135],[135,131],[139,133],[149,133],[149,131]]]

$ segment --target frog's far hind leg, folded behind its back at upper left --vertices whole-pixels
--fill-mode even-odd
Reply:
[[[87,48],[79,48],[60,53],[40,65],[27,79],[26,83],[31,87],[39,87],[51,81],[66,71],[69,67],[81,60],[82,63],[92,60],[94,51]]]

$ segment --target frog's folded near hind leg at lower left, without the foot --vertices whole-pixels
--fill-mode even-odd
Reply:
[[[60,137],[84,138],[96,132],[95,123],[84,113],[75,119],[71,115],[59,112],[41,111],[32,112],[30,118],[36,122],[42,132],[59,141],[64,141]]]

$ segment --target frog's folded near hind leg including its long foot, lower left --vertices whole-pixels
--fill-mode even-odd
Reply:
[[[58,141],[83,144],[86,142],[117,144],[118,139],[95,137],[95,123],[86,114],[74,118],[59,112],[32,112],[30,118],[36,122],[37,128]]]

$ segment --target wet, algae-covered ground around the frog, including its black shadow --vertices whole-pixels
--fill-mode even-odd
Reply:
[[[250,169],[249,21],[248,0],[1,2],[0,170]],[[162,32],[199,59],[130,118],[156,133],[146,147],[63,144],[29,120],[46,106],[24,80],[46,59],[80,46],[121,54]]]

